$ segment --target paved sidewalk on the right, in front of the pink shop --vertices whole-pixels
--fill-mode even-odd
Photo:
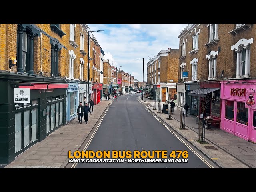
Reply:
[[[200,144],[198,140],[198,124],[196,124],[195,116],[185,118],[185,128],[181,130],[180,127],[180,111],[174,110],[174,115],[171,120],[167,119],[168,114],[158,113],[156,103],[156,110],[153,109],[154,101],[146,98],[146,102],[138,97],[148,110],[154,113],[158,118],[166,122],[176,133],[182,136],[185,140],[190,142],[204,155],[208,156],[213,162],[222,168],[256,168],[256,144],[248,142],[242,138],[234,136],[228,132],[220,130],[219,128],[206,129],[205,141],[208,144]],[[165,102],[161,103],[162,105]]]

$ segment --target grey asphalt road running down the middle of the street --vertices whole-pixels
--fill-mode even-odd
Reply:
[[[186,145],[152,116],[135,95],[119,96],[86,150],[96,151],[188,151],[187,163],[78,163],[76,168],[209,168]],[[133,155],[133,154],[132,154]],[[182,158],[182,156],[180,156]],[[133,158],[134,159],[134,158]],[[147,158],[148,159],[148,158]],[[164,158],[163,158],[164,159]],[[102,159],[103,160],[103,159]],[[128,160],[124,158],[124,160]],[[208,160],[209,161],[209,160]]]

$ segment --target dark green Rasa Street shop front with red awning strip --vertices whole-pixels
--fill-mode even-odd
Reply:
[[[66,90],[62,78],[0,72],[0,164],[40,142],[66,121]],[[30,100],[14,102],[14,88],[29,91]]]

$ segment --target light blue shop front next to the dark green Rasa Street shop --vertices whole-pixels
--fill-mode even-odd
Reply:
[[[67,96],[67,121],[70,122],[76,118],[76,108],[78,106],[79,96],[79,83],[71,81],[68,84],[68,96]]]

